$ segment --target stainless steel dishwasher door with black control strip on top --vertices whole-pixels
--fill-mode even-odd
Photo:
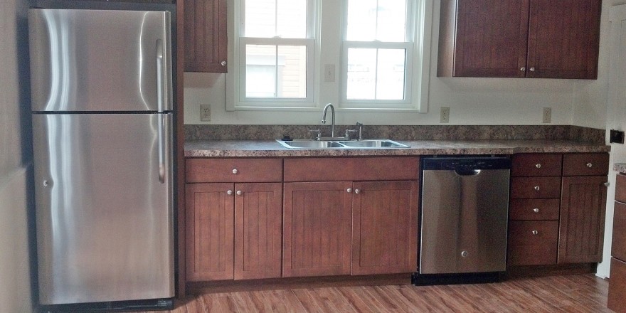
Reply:
[[[511,161],[423,159],[420,274],[504,272]]]

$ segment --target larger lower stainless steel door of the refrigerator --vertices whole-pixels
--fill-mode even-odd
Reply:
[[[174,297],[171,114],[33,115],[41,304]]]

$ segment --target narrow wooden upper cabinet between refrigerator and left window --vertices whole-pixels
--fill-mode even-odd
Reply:
[[[184,0],[185,71],[226,73],[226,0]]]

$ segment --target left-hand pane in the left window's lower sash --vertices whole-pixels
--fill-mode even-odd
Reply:
[[[276,46],[245,46],[245,96],[276,97]]]

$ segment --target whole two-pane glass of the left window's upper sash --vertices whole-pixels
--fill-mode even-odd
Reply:
[[[307,38],[307,0],[245,0],[244,36]]]

